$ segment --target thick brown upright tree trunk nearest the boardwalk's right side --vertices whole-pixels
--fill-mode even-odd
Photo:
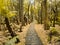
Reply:
[[[49,30],[49,22],[48,22],[48,14],[47,14],[47,0],[44,0],[44,11],[45,11],[44,29]]]

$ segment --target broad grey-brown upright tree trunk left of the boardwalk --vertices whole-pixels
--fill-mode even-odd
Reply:
[[[25,25],[24,15],[23,15],[23,0],[19,0],[19,18],[20,18],[20,22],[21,22],[21,26],[20,26],[20,31],[19,32],[22,32],[22,26]]]

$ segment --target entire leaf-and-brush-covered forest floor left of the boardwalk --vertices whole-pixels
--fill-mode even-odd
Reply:
[[[11,26],[12,28],[14,28],[13,31],[17,34],[17,37],[20,40],[20,42],[16,45],[25,45],[25,37],[26,37],[26,33],[27,33],[27,30],[28,30],[29,26],[30,26],[29,24],[26,25],[26,26],[23,26],[22,27],[22,32],[18,31],[18,29],[20,28],[20,24],[19,25],[13,24]],[[11,38],[11,36],[10,36],[10,34],[7,30],[6,31],[0,31],[0,45],[3,45],[3,43],[5,43],[5,45],[8,45],[8,43],[11,44],[11,45],[15,45],[13,43],[14,40],[15,40],[15,37],[12,38],[11,40],[9,40],[9,38]]]

